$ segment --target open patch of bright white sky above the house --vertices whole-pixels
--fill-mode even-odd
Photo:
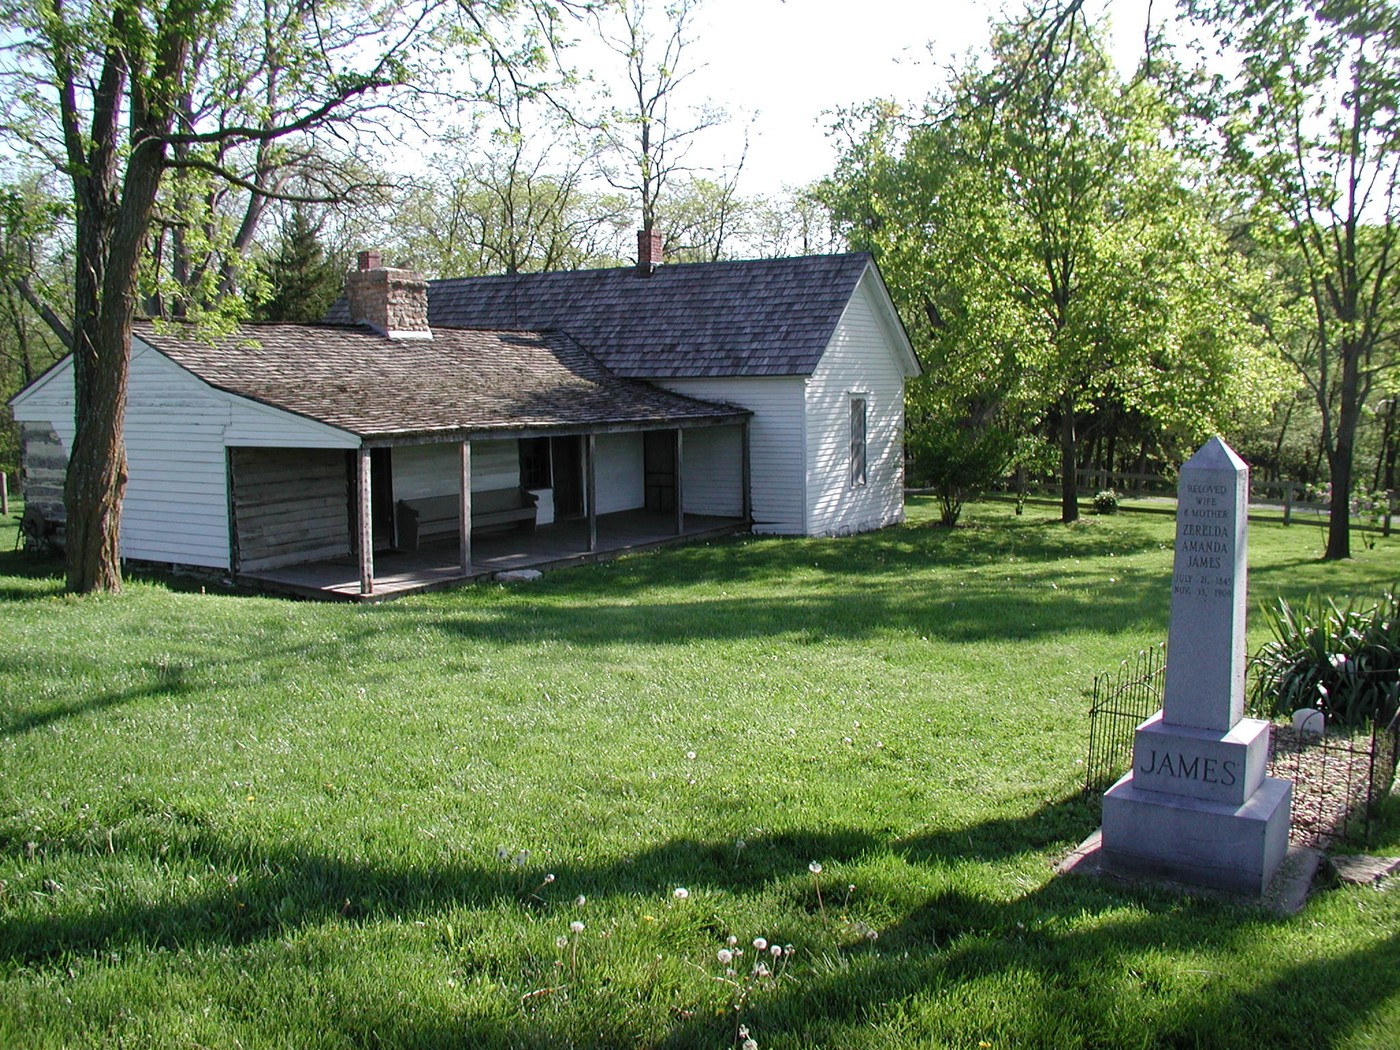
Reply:
[[[951,60],[986,45],[988,18],[1000,7],[1000,0],[707,0],[686,52],[704,69],[678,99],[724,106],[732,133],[707,132],[687,162],[734,162],[738,132],[756,113],[739,192],[769,195],[813,182],[834,165],[823,112],[872,98],[923,101]],[[1175,4],[1086,4],[1091,17],[1109,14],[1124,71],[1141,55],[1149,8],[1161,21]]]

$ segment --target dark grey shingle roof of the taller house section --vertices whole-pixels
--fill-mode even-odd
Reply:
[[[871,258],[815,255],[428,281],[428,322],[557,329],[616,375],[811,375]],[[332,321],[347,321],[337,302]]]

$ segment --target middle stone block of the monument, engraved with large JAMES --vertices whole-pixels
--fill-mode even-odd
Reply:
[[[1268,722],[1259,718],[1242,718],[1219,732],[1168,725],[1158,711],[1133,738],[1133,783],[1145,791],[1239,806],[1267,770]]]

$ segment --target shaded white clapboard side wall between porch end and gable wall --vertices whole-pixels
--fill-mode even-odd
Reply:
[[[738,405],[749,423],[749,490],[753,531],[806,532],[806,445],[801,377],[665,379],[658,385],[692,398]],[[692,431],[693,433],[693,431]],[[689,434],[686,435],[689,441]],[[689,482],[686,483],[689,489]],[[692,507],[689,496],[686,505]]]

